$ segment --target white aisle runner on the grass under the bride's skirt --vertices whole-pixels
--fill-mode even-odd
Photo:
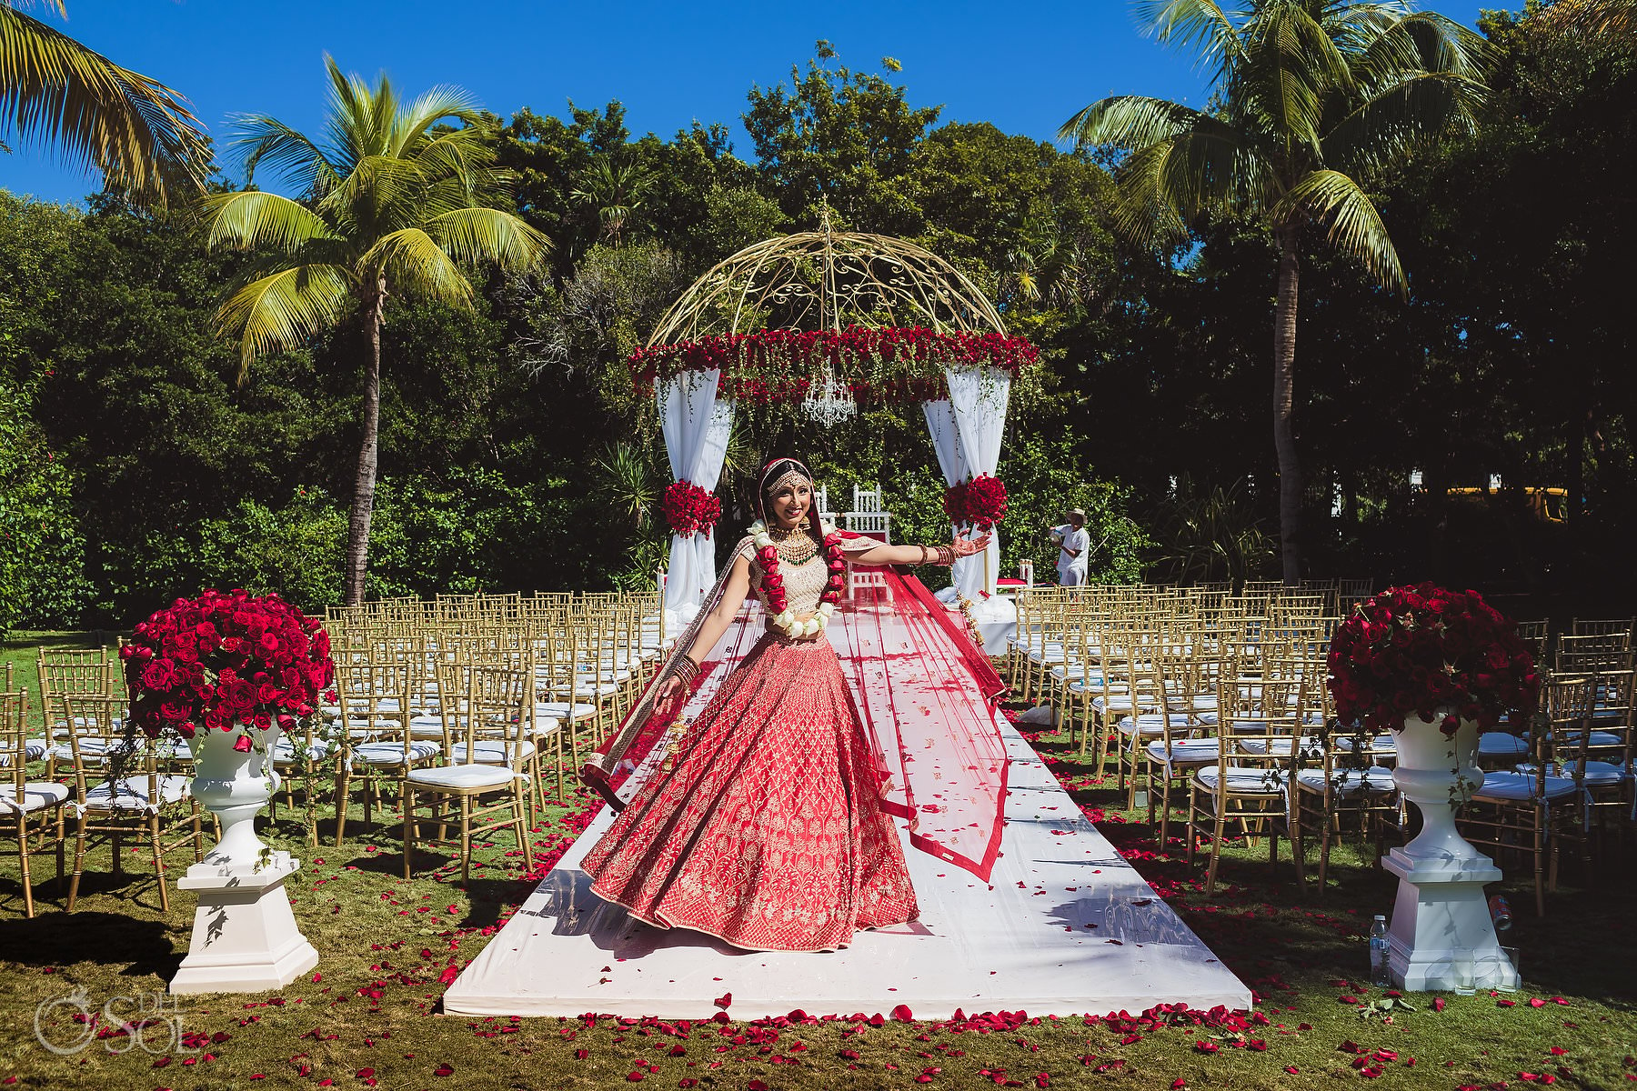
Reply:
[[[835,643],[846,648],[851,626],[838,628]],[[730,631],[719,648],[735,644],[745,646]],[[689,713],[709,700],[730,659],[701,685]],[[851,682],[853,672],[843,672]],[[1003,718],[1000,731],[1010,793],[989,883],[912,849],[899,823],[918,921],[859,932],[851,947],[827,954],[746,952],[699,932],[650,927],[593,895],[579,870],[614,818],[604,810],[455,978],[444,1009],[704,1019],[728,993],[735,1019],[796,1008],[874,1014],[897,1004],[917,1019],[946,1019],[958,1008],[1039,1016],[1136,1012],[1159,1003],[1249,1008],[1251,990],[1154,896]],[[625,783],[624,798],[645,772]]]

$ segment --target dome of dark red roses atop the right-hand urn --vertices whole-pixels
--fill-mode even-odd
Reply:
[[[1439,728],[1454,736],[1462,720],[1491,730],[1532,712],[1540,676],[1516,623],[1483,595],[1424,582],[1377,594],[1337,626],[1329,689],[1342,723],[1401,730],[1411,713],[1431,723],[1444,710]]]

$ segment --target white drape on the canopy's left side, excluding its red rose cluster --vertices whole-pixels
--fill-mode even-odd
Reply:
[[[733,401],[717,397],[720,371],[683,371],[660,383],[660,429],[671,478],[715,491],[733,430]],[[699,612],[715,584],[715,538],[671,535],[671,569],[665,584],[665,608],[686,623]]]

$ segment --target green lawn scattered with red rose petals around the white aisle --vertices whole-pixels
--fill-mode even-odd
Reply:
[[[61,909],[61,895],[47,885],[39,916],[26,921],[16,862],[0,862],[0,973],[8,986],[0,994],[0,1086],[609,1088],[637,1075],[648,1086],[733,1091],[1295,1089],[1367,1080],[1378,1070],[1373,1086],[1454,1091],[1544,1083],[1519,1073],[1552,1076],[1567,1088],[1627,1086],[1637,1075],[1629,1063],[1637,1053],[1637,960],[1624,942],[1634,893],[1627,865],[1596,867],[1591,887],[1580,885],[1588,882],[1581,870],[1568,870],[1545,921],[1527,914],[1524,890],[1509,890],[1521,909],[1514,932],[1524,950],[1522,991],[1447,996],[1442,1011],[1434,1011],[1432,996],[1418,994],[1413,1012],[1360,1017],[1360,1006],[1341,998],[1380,998],[1367,988],[1364,932],[1370,914],[1390,909],[1395,880],[1347,847],[1331,890],[1319,895],[1310,887],[1298,895],[1288,855],[1269,870],[1257,844],[1228,852],[1224,887],[1205,898],[1203,869],[1184,864],[1179,846],[1170,846],[1175,859],[1161,851],[1146,815],[1118,810],[1123,800],[1112,783],[1090,782],[1066,739],[1048,734],[1038,746],[1115,846],[1257,991],[1242,1030],[1187,1021],[1110,1026],[1033,1012],[997,1024],[887,1019],[879,1027],[846,1019],[855,1012],[810,1012],[843,1019],[778,1026],[714,1024],[707,1022],[714,1012],[701,1011],[686,1027],[444,1016],[445,978],[489,942],[534,887],[509,837],[480,852],[470,888],[458,887],[458,865],[437,852],[417,852],[421,870],[406,883],[396,828],[367,828],[355,810],[347,841],[334,847],[326,839],[314,851],[301,816],[282,811],[265,823],[264,836],[304,860],[290,896],[319,950],[316,973],[278,994],[178,998],[177,1019],[193,1048],[164,1047],[159,1055],[131,1048],[129,1037],[116,1034],[57,1057],[36,1040],[36,1009],[75,988],[93,1008],[164,990],[187,952],[193,900],[174,893],[170,913],[160,913],[147,864],[133,855],[115,880],[103,849],[87,865],[87,893],[74,914]],[[571,844],[589,806],[576,797],[542,819],[530,837],[534,877]],[[187,862],[174,857],[172,869]],[[36,877],[47,873],[39,860]],[[882,993],[882,1014],[891,1012],[889,998]],[[1516,1004],[1499,1006],[1503,999]],[[791,983],[791,1008],[805,1008],[799,981]],[[47,1034],[77,1030],[64,1014],[61,1006],[47,1012]],[[1257,1026],[1262,1019],[1265,1026]],[[157,1044],[164,1042],[160,1034]],[[1206,1052],[1211,1047],[1216,1052]]]

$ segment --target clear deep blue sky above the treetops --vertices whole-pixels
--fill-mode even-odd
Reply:
[[[1468,26],[1480,11],[1465,0],[1424,7]],[[268,113],[316,131],[326,52],[368,77],[385,69],[409,93],[457,83],[499,114],[619,98],[635,134],[722,121],[745,157],[745,92],[786,80],[818,38],[853,69],[876,70],[882,56],[897,57],[904,70],[894,82],[909,87],[917,106],[943,103],[945,121],[992,121],[1036,139],[1051,139],[1103,95],[1198,105],[1206,93],[1185,56],[1138,34],[1123,0],[69,0],[67,8],[67,23],[43,5],[31,13],[187,95],[218,146],[234,113]],[[52,201],[98,188],[34,146],[0,154],[0,186]]]

